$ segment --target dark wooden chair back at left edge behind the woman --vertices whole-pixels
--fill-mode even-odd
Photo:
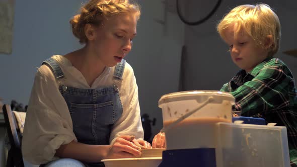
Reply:
[[[3,115],[5,125],[7,127],[7,134],[9,137],[11,148],[8,151],[7,167],[24,167],[24,161],[21,151],[20,137],[17,132],[17,123],[14,113],[10,105],[3,106]]]

